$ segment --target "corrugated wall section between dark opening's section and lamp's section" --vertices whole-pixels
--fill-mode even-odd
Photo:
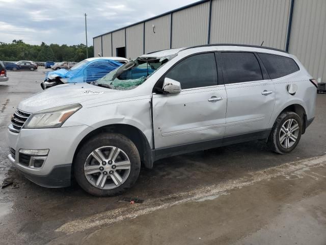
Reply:
[[[137,24],[136,26],[126,29],[126,47],[127,58],[137,58],[144,53],[144,24]]]

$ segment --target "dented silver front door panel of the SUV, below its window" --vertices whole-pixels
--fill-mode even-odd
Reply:
[[[226,107],[224,85],[153,94],[155,149],[223,138]]]

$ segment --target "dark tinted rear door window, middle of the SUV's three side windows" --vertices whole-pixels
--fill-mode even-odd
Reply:
[[[226,71],[225,84],[263,80],[259,62],[253,53],[223,52],[221,56]]]

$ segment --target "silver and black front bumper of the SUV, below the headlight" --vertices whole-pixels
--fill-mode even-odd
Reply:
[[[92,131],[89,126],[52,129],[22,129],[19,133],[8,130],[7,143],[15,151],[8,157],[26,178],[45,187],[70,185],[71,163],[79,142]],[[41,168],[31,168],[19,163],[19,150],[49,149]]]

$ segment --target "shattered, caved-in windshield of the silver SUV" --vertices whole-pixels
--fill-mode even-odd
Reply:
[[[133,89],[176,56],[177,54],[165,57],[139,57],[111,71],[93,84],[117,90]]]

